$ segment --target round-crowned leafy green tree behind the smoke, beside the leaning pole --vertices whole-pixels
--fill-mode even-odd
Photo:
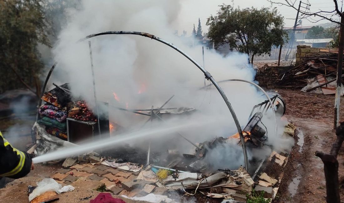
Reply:
[[[288,34],[283,31],[283,17],[277,8],[234,8],[220,5],[216,16],[207,19],[208,37],[215,47],[229,44],[230,50],[251,55],[271,54],[272,46],[284,43]]]

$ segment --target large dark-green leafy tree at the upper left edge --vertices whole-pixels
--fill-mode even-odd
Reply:
[[[42,4],[41,0],[0,1],[0,92],[24,86],[33,91],[32,84],[40,89],[37,73],[43,64],[36,47],[50,46]]]

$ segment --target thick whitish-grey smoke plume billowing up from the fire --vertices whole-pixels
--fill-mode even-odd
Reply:
[[[69,11],[70,21],[58,36],[53,50],[58,65],[50,82],[70,82],[74,97],[81,97],[95,106],[88,40],[76,42],[86,35],[103,31],[148,32],[175,44],[201,62],[202,47],[189,47],[173,34],[174,25],[179,23],[181,3],[181,0],[83,1],[80,10]],[[232,115],[217,90],[214,87],[198,90],[204,86],[203,73],[174,49],[142,36],[105,35],[89,40],[92,43],[98,101],[109,102],[112,122],[126,129],[136,129],[148,117],[118,111],[111,106],[149,109],[153,105],[158,108],[175,95],[165,107],[193,107],[198,111],[174,120],[211,123],[197,131],[181,132],[193,142],[201,143],[216,136],[228,137],[237,132]],[[232,53],[223,57],[213,50],[205,50],[205,63],[217,81],[232,78],[254,80],[255,71],[247,65],[247,55]],[[241,127],[245,127],[252,106],[266,98],[261,97],[253,86],[242,82],[221,83],[221,87],[232,103]],[[265,123],[267,126],[271,123],[273,127],[273,122],[273,119],[267,119]],[[274,136],[273,130],[270,132]],[[180,137],[174,137],[172,143],[166,139],[172,138],[162,136],[157,140],[162,145],[155,147],[166,150],[173,146],[184,152],[192,147]],[[147,143],[142,141],[146,140],[138,143],[147,147]],[[239,152],[228,153],[227,160],[241,161],[242,164],[243,158],[237,155],[241,147],[233,150]],[[230,161],[228,164],[223,168],[229,168]]]

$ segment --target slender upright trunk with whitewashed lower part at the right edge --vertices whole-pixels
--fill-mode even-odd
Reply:
[[[342,13],[344,14],[344,13]],[[337,87],[334,102],[334,125],[335,129],[339,125],[339,110],[342,95],[342,68],[343,68],[343,49],[344,49],[344,18],[341,17],[341,27],[339,30],[338,63],[337,63]]]

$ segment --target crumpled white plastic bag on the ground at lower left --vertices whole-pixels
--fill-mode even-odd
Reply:
[[[44,178],[41,182],[37,182],[37,188],[35,188],[32,193],[29,195],[29,201],[35,199],[37,196],[49,191],[55,191],[57,194],[60,194],[61,184],[58,184],[52,178]]]

